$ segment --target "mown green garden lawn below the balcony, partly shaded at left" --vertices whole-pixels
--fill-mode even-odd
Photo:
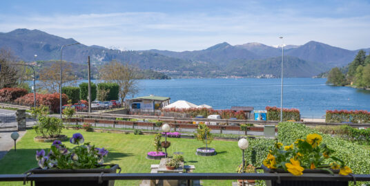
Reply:
[[[146,159],[146,153],[153,151],[153,136],[135,136],[124,133],[89,133],[83,130],[64,130],[63,133],[72,136],[80,132],[86,142],[92,142],[96,147],[105,147],[109,150],[106,162],[118,164],[122,173],[149,173],[151,164],[159,164],[159,160]],[[50,148],[51,143],[34,142],[34,130],[27,131],[19,142],[17,152],[9,151],[0,160],[0,174],[22,174],[28,169],[37,167],[35,160],[36,150]],[[162,138],[164,140],[164,138]],[[202,142],[193,139],[168,138],[171,147],[168,154],[175,151],[184,153],[186,165],[195,165],[194,172],[230,172],[235,173],[237,165],[241,162],[242,151],[237,147],[237,142],[213,141],[210,147],[216,149],[216,156],[203,157],[195,155],[198,147],[204,147]],[[73,147],[70,142],[64,142],[68,147]],[[231,185],[233,180],[204,180],[203,185]],[[117,181],[115,185],[139,185],[140,180]],[[16,185],[16,183],[0,183],[0,185]],[[22,185],[22,183],[17,183]]]

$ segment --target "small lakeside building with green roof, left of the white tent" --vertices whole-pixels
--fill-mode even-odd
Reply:
[[[170,104],[170,97],[149,95],[135,97],[129,101],[130,110],[154,111]]]

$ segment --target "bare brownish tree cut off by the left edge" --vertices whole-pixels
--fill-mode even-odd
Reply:
[[[17,58],[10,50],[0,48],[0,89],[17,86],[19,75],[17,67],[12,66],[12,63],[17,63]]]

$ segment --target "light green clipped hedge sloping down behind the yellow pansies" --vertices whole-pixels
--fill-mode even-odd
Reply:
[[[364,149],[364,147],[341,138],[320,133],[303,124],[282,122],[278,125],[278,128],[277,138],[284,145],[291,145],[296,139],[306,138],[309,133],[318,133],[322,135],[322,142],[327,144],[330,149],[335,150],[333,156],[344,160],[352,169],[353,174],[370,174],[370,151]]]

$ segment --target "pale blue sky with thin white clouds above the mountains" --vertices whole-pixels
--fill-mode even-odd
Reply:
[[[320,41],[370,48],[370,1],[1,1],[0,32],[38,29],[86,45],[200,50]]]

